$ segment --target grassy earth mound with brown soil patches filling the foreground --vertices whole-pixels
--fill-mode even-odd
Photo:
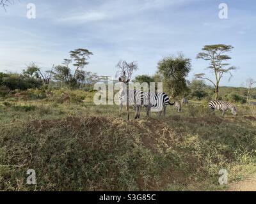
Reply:
[[[231,180],[256,169],[255,120],[233,120],[87,115],[7,124],[0,127],[0,189],[220,189],[221,168]],[[36,186],[26,184],[28,169],[36,171]]]

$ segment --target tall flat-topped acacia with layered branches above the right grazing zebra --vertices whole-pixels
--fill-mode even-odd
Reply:
[[[235,66],[230,66],[230,64],[227,63],[231,57],[229,57],[226,53],[231,52],[232,45],[205,45],[204,48],[202,48],[203,52],[200,52],[196,59],[204,59],[205,61],[209,61],[209,66],[206,69],[210,69],[215,76],[215,80],[211,80],[210,78],[207,78],[205,73],[198,73],[195,74],[196,78],[208,80],[211,82],[211,84],[214,85],[215,90],[215,99],[218,99],[219,92],[220,92],[220,81],[223,76],[228,73],[230,74],[230,79],[232,78],[232,71],[236,69]]]

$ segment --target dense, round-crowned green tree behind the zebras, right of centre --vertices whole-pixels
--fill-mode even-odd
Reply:
[[[164,87],[168,89],[167,92],[176,98],[188,91],[186,77],[190,70],[191,60],[180,53],[177,57],[164,57],[159,61],[157,75],[159,78],[163,78]]]

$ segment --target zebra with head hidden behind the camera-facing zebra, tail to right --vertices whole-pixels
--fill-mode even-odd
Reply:
[[[167,105],[173,105],[174,103],[170,103],[169,96],[167,96],[164,92],[144,92],[143,93],[143,105],[147,107],[147,117],[149,117],[149,113],[152,110],[154,112],[158,112],[159,116],[162,115],[164,110],[164,116],[166,115],[166,107]]]

